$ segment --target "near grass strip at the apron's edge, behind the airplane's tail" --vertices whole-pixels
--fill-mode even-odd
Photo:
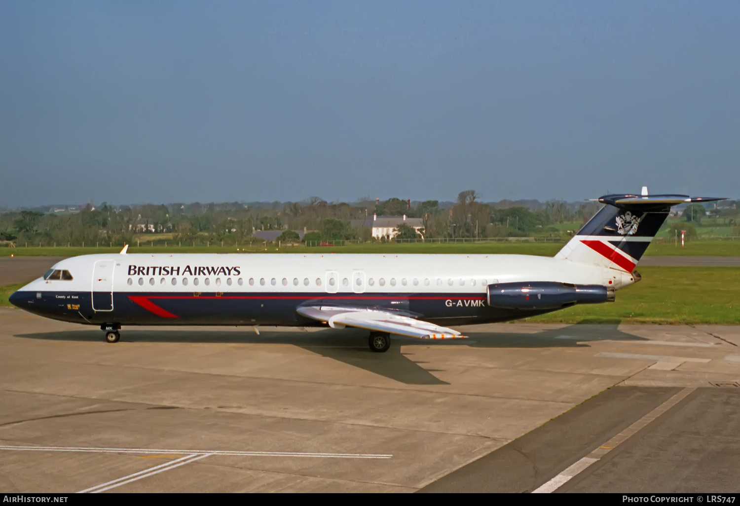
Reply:
[[[740,324],[740,269],[642,267],[642,281],[617,292],[613,303],[528,318],[533,323]],[[0,288],[0,306],[22,285]]]

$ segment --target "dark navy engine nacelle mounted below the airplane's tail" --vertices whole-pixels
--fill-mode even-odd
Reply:
[[[488,306],[502,309],[559,309],[575,304],[614,301],[614,289],[601,285],[572,285],[533,281],[488,285]]]

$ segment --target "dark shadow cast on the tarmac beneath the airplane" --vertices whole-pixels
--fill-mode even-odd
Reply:
[[[289,344],[406,385],[448,385],[448,382],[432,374],[441,370],[425,368],[426,362],[414,360],[414,345],[453,345],[471,348],[578,348],[587,347],[588,341],[645,340],[620,331],[617,325],[568,325],[533,333],[471,331],[465,333],[468,339],[443,342],[394,336],[391,348],[386,353],[373,353],[366,345],[367,332],[357,329],[322,329],[310,332],[260,330],[260,335],[257,335],[248,331],[219,331],[216,328],[203,331],[200,329],[152,330],[148,328],[137,330],[129,327],[122,332],[121,343]],[[53,341],[97,341],[101,345],[115,346],[103,343],[103,333],[99,330],[40,332],[16,334],[15,337]]]

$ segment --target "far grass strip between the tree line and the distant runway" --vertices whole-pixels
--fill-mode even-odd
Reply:
[[[347,246],[291,246],[277,248],[277,246],[129,246],[129,253],[458,253],[458,254],[539,254],[552,256],[565,243],[362,243]],[[73,257],[79,254],[118,253],[121,246],[114,248],[81,248],[81,247],[31,247],[31,248],[0,248],[0,257],[16,256],[46,256],[46,257]],[[680,243],[656,242],[650,244],[646,255],[716,255],[740,256],[740,240],[696,240],[687,242],[682,248]]]

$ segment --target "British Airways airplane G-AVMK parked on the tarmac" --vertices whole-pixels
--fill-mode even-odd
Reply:
[[[670,207],[723,198],[612,194],[554,257],[520,254],[88,254],[56,263],[10,296],[14,306],[100,325],[363,328],[375,352],[391,334],[464,338],[495,323],[613,302]]]

